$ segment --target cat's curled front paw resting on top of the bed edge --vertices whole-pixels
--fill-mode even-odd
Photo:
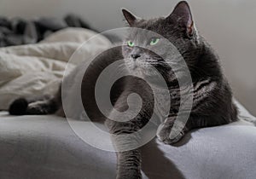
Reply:
[[[156,133],[156,136],[160,141],[163,141],[166,144],[173,144],[183,138],[183,136],[185,135],[185,132],[183,130],[183,124],[177,123],[175,127],[173,127],[173,124],[174,123],[160,124]]]

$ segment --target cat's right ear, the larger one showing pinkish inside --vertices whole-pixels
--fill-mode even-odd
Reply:
[[[189,3],[185,1],[177,3],[172,14],[170,14],[166,19],[177,23],[177,26],[184,27],[189,38],[192,38],[196,32]]]

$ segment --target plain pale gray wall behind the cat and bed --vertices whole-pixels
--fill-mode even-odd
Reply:
[[[96,29],[123,26],[120,8],[138,16],[171,13],[177,0],[0,0],[0,15],[61,18],[76,13]],[[222,58],[224,71],[236,97],[256,115],[256,1],[190,0],[195,22]]]

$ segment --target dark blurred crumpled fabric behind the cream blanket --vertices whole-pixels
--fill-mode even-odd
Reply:
[[[63,20],[42,17],[35,20],[0,17],[0,47],[38,43],[53,32],[67,27],[83,27],[93,30],[75,14],[68,14]],[[94,30],[95,31],[95,30]]]

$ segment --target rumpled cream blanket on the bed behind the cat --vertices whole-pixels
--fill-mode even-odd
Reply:
[[[69,58],[95,35],[87,29],[67,28],[40,43],[0,48],[0,110],[7,110],[20,97],[54,95],[64,72],[71,72],[78,65],[72,64],[66,70]],[[108,38],[96,37],[83,45],[84,58],[111,46]]]

